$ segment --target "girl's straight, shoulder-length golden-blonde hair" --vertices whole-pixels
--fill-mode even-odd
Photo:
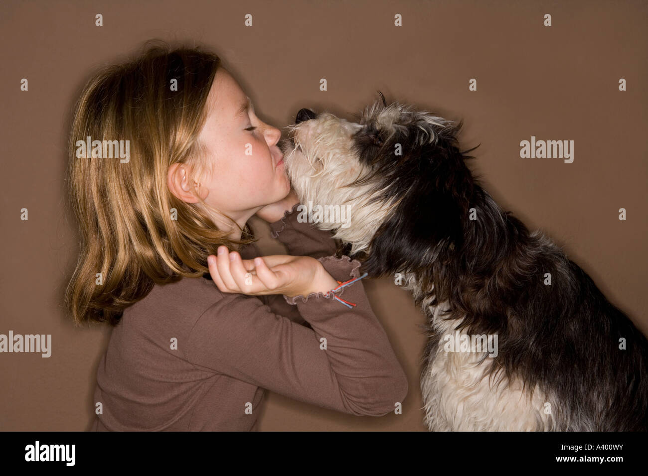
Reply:
[[[255,241],[249,225],[236,225],[241,240],[231,240],[204,202],[185,203],[167,186],[171,164],[186,164],[192,177],[209,168],[198,135],[219,67],[213,53],[149,41],[137,58],[102,69],[84,87],[68,148],[82,241],[65,305],[76,323],[117,324],[154,284],[200,277],[219,245]],[[128,141],[130,159],[92,157],[90,150],[77,157],[77,141],[87,140]]]

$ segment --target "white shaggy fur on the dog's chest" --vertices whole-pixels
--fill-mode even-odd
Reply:
[[[430,431],[547,431],[552,420],[545,413],[548,396],[522,389],[520,381],[503,374],[489,376],[497,357],[487,352],[446,352],[445,335],[455,334],[461,319],[443,319],[446,303],[432,306],[434,289],[422,291],[408,274],[406,289],[413,291],[428,324],[423,356],[421,394],[425,423]],[[461,332],[465,334],[465,330]]]

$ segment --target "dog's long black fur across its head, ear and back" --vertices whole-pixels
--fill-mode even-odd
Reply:
[[[449,303],[446,318],[465,315],[460,327],[468,334],[498,334],[492,372],[555,396],[559,429],[648,431],[645,336],[559,247],[492,201],[465,163],[473,157],[456,146],[461,122],[435,126],[408,114],[392,131],[363,117],[355,137],[358,157],[373,170],[363,181],[375,182],[374,199],[399,200],[375,232],[362,272],[415,273],[422,289],[434,284],[433,303]],[[394,155],[395,144],[402,155]],[[432,323],[428,331],[426,363],[441,337]]]

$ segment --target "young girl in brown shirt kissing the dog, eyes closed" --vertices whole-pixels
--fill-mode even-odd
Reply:
[[[198,49],[149,47],[87,83],[70,139],[82,249],[66,300],[77,323],[113,326],[93,429],[256,430],[264,389],[355,415],[404,400],[360,263],[297,221],[280,136]],[[108,141],[128,141],[128,160]],[[292,256],[252,259],[255,214]]]

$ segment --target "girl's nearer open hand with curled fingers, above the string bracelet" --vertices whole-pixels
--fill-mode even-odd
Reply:
[[[284,294],[288,297],[327,293],[338,286],[321,263],[310,256],[270,255],[243,260],[236,251],[218,247],[207,257],[209,274],[223,293]]]

